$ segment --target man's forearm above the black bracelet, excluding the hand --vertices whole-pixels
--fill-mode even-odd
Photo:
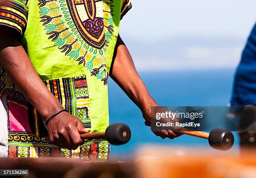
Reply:
[[[63,109],[39,78],[22,46],[3,49],[0,52],[0,64],[44,119]]]

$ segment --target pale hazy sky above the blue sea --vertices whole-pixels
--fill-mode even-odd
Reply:
[[[256,22],[255,0],[131,2],[119,33],[139,71],[236,68]]]

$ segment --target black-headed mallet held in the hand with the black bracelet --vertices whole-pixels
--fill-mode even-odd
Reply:
[[[115,123],[109,125],[105,132],[84,133],[81,134],[80,137],[82,139],[104,138],[108,140],[110,144],[122,145],[131,139],[131,130],[125,124]],[[48,137],[45,137],[44,141],[50,142]]]

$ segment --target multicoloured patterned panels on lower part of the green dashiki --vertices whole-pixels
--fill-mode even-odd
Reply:
[[[0,72],[0,78],[5,78],[5,72],[3,70]],[[86,76],[47,80],[44,84],[63,107],[79,118],[85,128],[90,131],[90,106]],[[4,87],[4,84],[0,83],[1,85]],[[45,142],[42,138],[48,133],[40,115],[28,103],[24,95],[15,88],[15,85],[11,86],[5,88],[8,106],[8,157],[109,159],[110,145],[107,140],[87,140],[77,150],[67,150]]]

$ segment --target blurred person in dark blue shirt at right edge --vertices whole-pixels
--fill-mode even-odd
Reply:
[[[236,70],[231,106],[256,105],[256,24],[247,40],[241,61]],[[241,147],[256,147],[254,131],[239,133]]]

